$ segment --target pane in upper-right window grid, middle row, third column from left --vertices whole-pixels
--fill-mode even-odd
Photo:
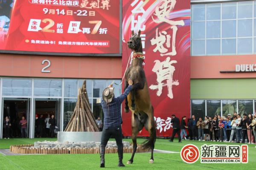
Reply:
[[[222,21],[222,38],[236,37],[236,20]]]

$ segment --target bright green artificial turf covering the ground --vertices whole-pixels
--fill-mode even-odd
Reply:
[[[29,144],[35,141],[46,139],[0,139],[0,148],[9,148],[10,144]],[[49,139],[47,139],[49,140]],[[56,139],[52,139],[56,140]],[[131,142],[131,139],[124,139]],[[145,139],[138,139],[138,143]],[[195,144],[201,147],[202,144],[230,144],[221,142],[183,141],[177,140],[171,143],[166,139],[157,139],[156,149],[180,152],[186,144]],[[108,170],[253,170],[256,166],[256,148],[249,144],[248,164],[201,164],[198,160],[194,164],[184,163],[179,153],[154,153],[154,164],[149,164],[150,153],[136,153],[133,164],[126,164],[131,153],[124,154],[125,167],[117,167],[117,154],[106,154],[106,168]],[[59,155],[22,155],[4,156],[0,154],[0,170],[97,170],[99,168],[99,154],[59,154]]]

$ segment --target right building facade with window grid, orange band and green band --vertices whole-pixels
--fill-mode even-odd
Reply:
[[[191,0],[191,113],[254,113],[256,1]]]

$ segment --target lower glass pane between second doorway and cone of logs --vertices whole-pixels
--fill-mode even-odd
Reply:
[[[64,99],[64,121],[63,129],[67,127],[76,107],[76,99]]]

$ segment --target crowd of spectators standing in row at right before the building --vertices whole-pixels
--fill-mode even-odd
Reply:
[[[190,139],[236,143],[247,141],[248,144],[256,144],[256,113],[240,115],[235,112],[233,116],[228,114],[227,117],[205,116],[204,120],[192,115],[187,122],[186,116],[183,116],[180,121],[175,115],[172,115],[171,122],[173,123],[173,134],[170,142],[173,142],[177,133],[179,142],[181,139]]]

